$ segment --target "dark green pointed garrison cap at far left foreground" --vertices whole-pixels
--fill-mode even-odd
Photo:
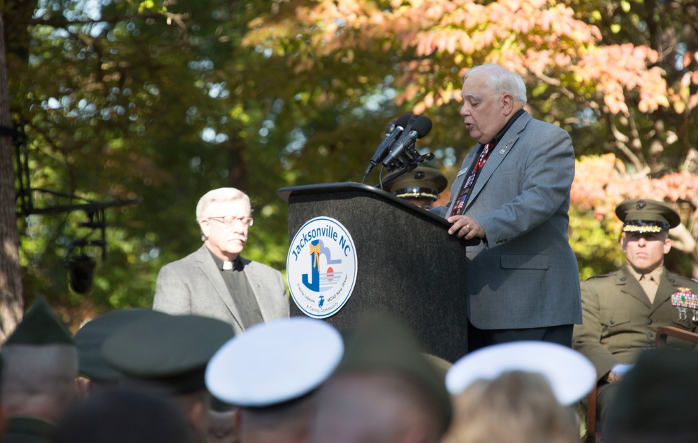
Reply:
[[[73,336],[43,297],[34,301],[5,342],[5,345],[59,344],[73,345]]]

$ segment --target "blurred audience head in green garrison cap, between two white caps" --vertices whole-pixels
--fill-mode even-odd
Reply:
[[[319,392],[310,442],[438,442],[451,402],[411,331],[370,313],[345,337],[344,358]]]

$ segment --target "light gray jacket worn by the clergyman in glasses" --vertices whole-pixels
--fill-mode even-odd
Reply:
[[[289,316],[289,297],[284,277],[266,264],[240,257],[244,273],[265,322]],[[206,246],[166,264],[155,283],[153,309],[169,314],[196,314],[228,322],[235,333],[245,328],[238,307]]]

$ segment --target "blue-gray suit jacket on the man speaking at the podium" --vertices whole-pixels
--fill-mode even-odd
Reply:
[[[435,209],[445,218],[477,151],[465,157],[451,203]],[[567,238],[572,179],[569,134],[528,113],[490,153],[465,208],[486,235],[466,250],[468,318],[477,328],[581,323],[579,270]]]

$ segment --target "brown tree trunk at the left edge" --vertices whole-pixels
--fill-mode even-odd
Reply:
[[[11,127],[7,77],[5,27],[0,10],[0,126]],[[20,239],[17,234],[15,171],[11,138],[0,135],[0,343],[4,343],[22,317]]]

